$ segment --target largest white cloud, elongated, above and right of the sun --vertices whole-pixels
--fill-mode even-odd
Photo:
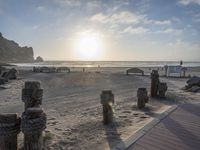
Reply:
[[[98,13],[90,18],[91,21],[111,24],[138,24],[143,19],[143,15],[136,15],[130,11],[121,11],[110,15]]]

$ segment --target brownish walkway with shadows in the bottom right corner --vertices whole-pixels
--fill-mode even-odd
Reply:
[[[200,104],[182,104],[127,150],[200,150]]]

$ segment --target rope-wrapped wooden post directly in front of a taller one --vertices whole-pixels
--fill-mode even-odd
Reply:
[[[43,130],[46,114],[41,108],[28,108],[22,114],[21,130],[24,133],[24,150],[43,149]]]

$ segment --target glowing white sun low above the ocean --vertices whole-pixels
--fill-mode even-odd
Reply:
[[[74,42],[75,55],[79,60],[97,60],[102,52],[102,41],[98,34],[80,34]]]

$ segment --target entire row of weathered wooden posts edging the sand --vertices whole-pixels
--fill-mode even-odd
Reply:
[[[166,83],[160,83],[157,71],[151,74],[151,97],[165,97]],[[27,81],[22,89],[22,101],[25,110],[21,117],[17,114],[0,114],[0,150],[17,150],[17,136],[22,131],[24,134],[24,150],[43,149],[43,130],[46,128],[46,114],[41,108],[43,89],[40,82]],[[148,102],[146,88],[137,91],[137,106],[139,109],[145,107]],[[114,94],[111,90],[102,91],[101,104],[103,106],[103,123],[109,124],[113,121]]]

